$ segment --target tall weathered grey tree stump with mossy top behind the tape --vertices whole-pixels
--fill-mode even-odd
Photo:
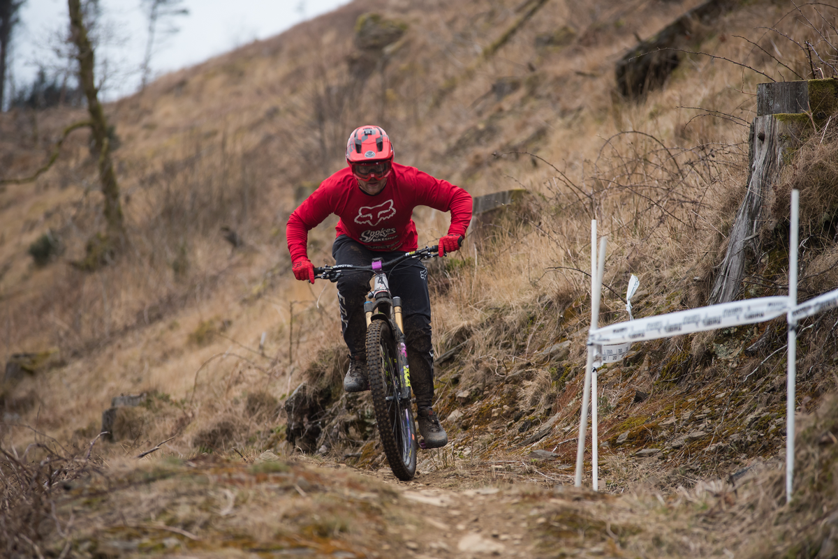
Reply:
[[[763,208],[789,153],[816,127],[838,113],[838,80],[774,82],[757,88],[757,117],[748,135],[747,192],[727,237],[727,253],[711,291],[710,305],[735,300],[742,276],[757,254]]]

